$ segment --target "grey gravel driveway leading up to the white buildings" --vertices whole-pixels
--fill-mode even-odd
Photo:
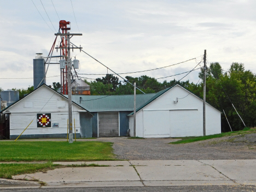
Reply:
[[[173,138],[97,138],[113,142],[118,159],[128,160],[206,160],[256,159],[256,133],[209,139],[187,144],[168,144]]]

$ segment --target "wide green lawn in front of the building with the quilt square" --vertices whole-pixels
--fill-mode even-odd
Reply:
[[[115,160],[110,142],[0,141],[0,161]]]

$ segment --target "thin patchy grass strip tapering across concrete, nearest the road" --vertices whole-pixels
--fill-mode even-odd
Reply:
[[[0,164],[0,178],[11,179],[11,176],[18,174],[30,174],[36,172],[46,172],[48,170],[54,170],[55,168],[65,167],[107,167],[108,165],[97,164],[81,164],[81,165],[59,165],[52,162],[46,162],[44,164]]]

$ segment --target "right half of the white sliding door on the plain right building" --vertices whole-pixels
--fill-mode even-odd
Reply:
[[[170,110],[170,137],[201,136],[201,116],[198,110]]]

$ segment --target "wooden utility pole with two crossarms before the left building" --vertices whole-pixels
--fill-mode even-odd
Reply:
[[[55,49],[67,49],[67,68],[68,68],[68,142],[73,143],[73,128],[72,128],[72,89],[71,89],[71,59],[70,59],[70,39],[73,36],[82,36],[81,33],[55,33],[55,36],[67,36],[67,47],[59,47]],[[71,37],[70,37],[71,36]],[[72,49],[82,49],[80,48],[73,48]]]

